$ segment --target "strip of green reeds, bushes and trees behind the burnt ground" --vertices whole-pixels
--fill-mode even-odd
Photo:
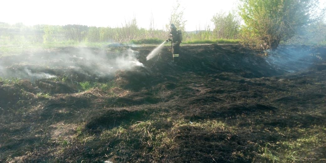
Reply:
[[[323,15],[316,16],[313,10],[317,4],[317,0],[243,0],[240,16],[245,22],[244,26],[240,26],[241,18],[237,15],[237,11],[219,12],[212,16],[211,21],[214,26],[198,26],[198,29],[193,32],[184,31],[186,20],[178,4],[170,15],[170,23],[183,30],[185,44],[240,41],[259,49],[275,49],[279,43],[325,45],[326,24],[316,21]],[[303,26],[304,28],[301,28]],[[153,16],[149,29],[139,28],[135,18],[126,21],[121,27],[25,26],[21,23],[10,25],[0,22],[0,56],[21,54],[42,48],[70,46],[100,48],[117,42],[160,44],[166,40],[168,33],[168,28],[161,30],[154,28]]]

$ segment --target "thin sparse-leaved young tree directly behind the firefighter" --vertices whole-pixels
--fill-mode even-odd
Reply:
[[[179,9],[180,3],[176,2],[176,6],[173,7],[173,10],[170,15],[170,24],[173,23],[177,29],[181,29],[181,31],[185,31],[185,22],[183,17],[183,10]],[[167,24],[166,27],[169,28],[170,24]]]

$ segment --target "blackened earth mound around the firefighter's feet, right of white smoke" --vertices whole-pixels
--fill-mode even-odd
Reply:
[[[146,56],[150,51],[143,48],[133,48]],[[258,57],[257,52],[241,45],[194,45],[182,46],[180,61],[172,61],[168,48],[162,49],[159,55],[146,61],[140,57],[153,73],[169,74],[180,72],[218,73],[233,72],[244,77],[262,77],[282,74],[283,71],[275,69],[266,63],[263,57]]]

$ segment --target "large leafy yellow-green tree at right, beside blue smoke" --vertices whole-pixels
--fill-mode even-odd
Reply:
[[[316,12],[318,0],[241,1],[245,43],[260,45],[264,49],[276,49],[280,41],[287,41],[304,25],[322,16]]]

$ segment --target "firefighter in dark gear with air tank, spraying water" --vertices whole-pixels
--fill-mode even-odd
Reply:
[[[180,52],[180,37],[178,36],[178,30],[174,24],[170,25],[170,33],[169,38],[166,40],[167,42],[171,42],[172,44],[172,54],[173,54],[173,61],[178,62],[179,60],[179,52]]]

